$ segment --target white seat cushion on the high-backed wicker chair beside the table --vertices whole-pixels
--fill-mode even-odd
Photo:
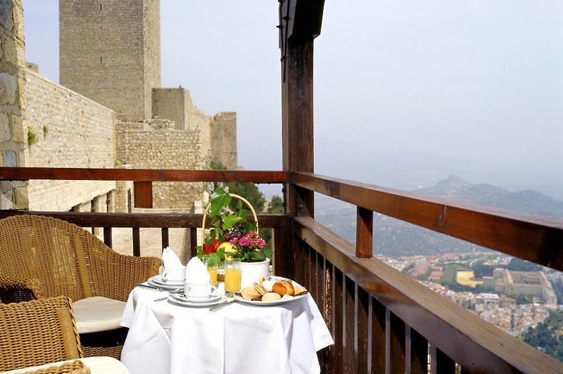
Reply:
[[[87,297],[72,304],[75,313],[76,329],[79,334],[120,328],[125,302],[103,296]]]

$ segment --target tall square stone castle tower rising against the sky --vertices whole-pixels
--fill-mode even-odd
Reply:
[[[115,110],[151,118],[160,88],[160,0],[59,0],[63,86]]]

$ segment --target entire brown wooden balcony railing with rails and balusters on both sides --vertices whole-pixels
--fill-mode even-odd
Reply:
[[[379,212],[562,270],[562,221],[310,173],[0,167],[0,181],[26,179],[286,183],[349,202],[358,207],[355,246],[307,215],[260,216],[262,226],[277,230],[277,273],[308,287],[331,328],[336,344],[320,354],[325,372],[563,373],[562,363],[371,257],[372,217]],[[160,227],[163,244],[167,228],[201,223],[194,214],[42,214],[103,227],[104,234],[112,227],[132,227],[134,236],[135,228]]]

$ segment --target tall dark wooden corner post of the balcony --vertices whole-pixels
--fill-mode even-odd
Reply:
[[[283,168],[289,172],[284,187],[285,213],[290,217],[312,217],[312,191],[291,184],[291,172],[314,172],[313,162],[313,39],[320,34],[324,0],[280,0],[281,120]],[[296,251],[292,224],[286,231],[284,250]],[[287,258],[287,257],[286,257]],[[279,269],[293,276],[293,264]]]

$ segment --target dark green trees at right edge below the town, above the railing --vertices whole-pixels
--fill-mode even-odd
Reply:
[[[562,332],[563,311],[550,311],[545,323],[538,323],[536,328],[530,328],[522,336],[522,340],[541,352],[563,361],[563,339],[559,336]]]

